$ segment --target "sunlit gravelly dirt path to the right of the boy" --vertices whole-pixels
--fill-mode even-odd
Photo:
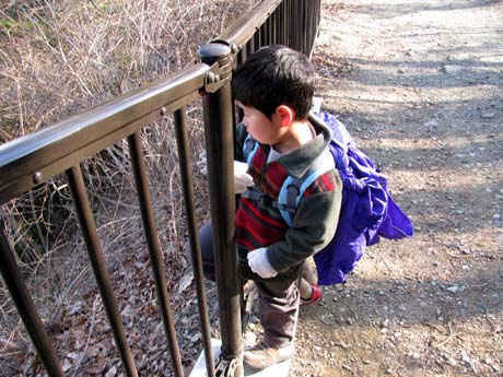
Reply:
[[[326,0],[313,59],[416,235],[302,309],[291,376],[503,376],[503,2]]]

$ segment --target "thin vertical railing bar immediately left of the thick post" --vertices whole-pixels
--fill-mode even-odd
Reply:
[[[176,141],[178,146],[178,163],[184,190],[185,212],[187,215],[187,227],[189,232],[190,254],[192,260],[194,279],[196,283],[197,302],[199,308],[199,320],[202,330],[202,346],[207,376],[214,377],[213,352],[211,347],[211,328],[208,316],[208,307],[204,292],[204,275],[202,272],[201,246],[197,233],[196,203],[194,199],[192,163],[189,153],[187,134],[187,115],[184,109],[173,114],[175,120]]]

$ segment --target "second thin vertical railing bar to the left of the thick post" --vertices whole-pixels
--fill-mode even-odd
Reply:
[[[141,148],[141,136],[139,131],[128,137],[128,146],[132,173],[137,186],[138,200],[140,203],[140,212],[147,246],[152,264],[152,273],[154,274],[159,306],[161,308],[161,317],[163,320],[164,332],[166,334],[167,345],[173,362],[173,370],[175,376],[184,376],[178,342],[176,340],[173,313],[169,305],[169,294],[167,293],[167,282],[163,264],[163,255],[159,244],[159,235],[155,226],[154,212],[152,209],[145,158]]]

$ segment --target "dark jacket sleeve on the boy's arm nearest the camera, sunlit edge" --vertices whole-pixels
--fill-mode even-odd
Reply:
[[[334,177],[336,188],[304,197],[285,239],[268,247],[269,262],[279,273],[302,263],[332,239],[342,198],[340,177],[337,173]]]

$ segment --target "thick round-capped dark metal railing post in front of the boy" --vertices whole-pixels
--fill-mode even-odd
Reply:
[[[208,176],[210,181],[210,211],[215,250],[217,286],[219,293],[220,330],[222,338],[221,363],[218,375],[243,376],[243,337],[241,301],[237,278],[237,256],[234,238],[234,139],[232,122],[233,51],[224,44],[210,43],[198,51],[203,63],[212,67],[209,84],[227,81],[215,93],[203,96]],[[218,72],[218,73],[213,73]],[[210,92],[210,93],[209,93]],[[220,373],[221,369],[222,374]]]

